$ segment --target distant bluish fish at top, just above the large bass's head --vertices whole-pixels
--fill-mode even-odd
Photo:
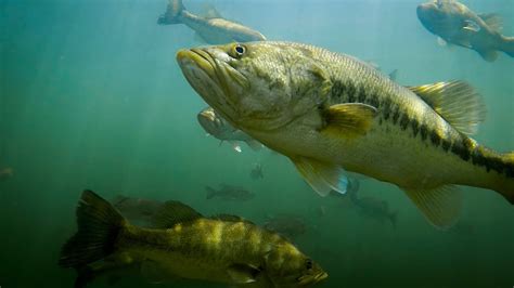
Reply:
[[[242,24],[222,18],[217,12],[211,12],[206,17],[190,13],[182,4],[182,0],[169,0],[168,9],[157,24],[185,24],[196,31],[198,38],[209,44],[230,42],[262,41],[266,37]]]

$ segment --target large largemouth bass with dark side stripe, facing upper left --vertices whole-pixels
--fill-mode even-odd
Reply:
[[[465,82],[407,88],[355,57],[291,42],[181,50],[177,60],[211,107],[287,156],[321,195],[344,191],[344,168],[398,185],[438,227],[457,221],[455,185],[514,202],[514,154],[470,138],[485,107]]]

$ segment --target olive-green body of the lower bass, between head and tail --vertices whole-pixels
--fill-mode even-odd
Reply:
[[[270,240],[281,240],[245,222],[200,219],[168,230],[129,226],[119,236],[117,251],[150,261],[163,275],[231,284],[231,265],[261,266]]]

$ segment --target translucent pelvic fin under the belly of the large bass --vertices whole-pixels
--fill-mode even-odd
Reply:
[[[320,162],[305,157],[291,158],[304,180],[322,197],[336,191],[346,193],[348,181],[344,175],[343,168],[333,163]]]

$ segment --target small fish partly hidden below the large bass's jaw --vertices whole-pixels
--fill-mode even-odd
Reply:
[[[210,107],[200,112],[197,119],[205,132],[221,140],[221,143],[223,143],[223,141],[229,142],[235,152],[241,153],[243,150],[240,142],[245,142],[254,150],[258,150],[262,147],[262,144],[255,141],[245,132],[235,129]]]

